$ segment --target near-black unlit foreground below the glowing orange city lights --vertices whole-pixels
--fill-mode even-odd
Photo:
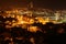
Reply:
[[[0,25],[0,44],[66,44],[66,24],[35,23],[41,31],[30,32],[21,28]]]

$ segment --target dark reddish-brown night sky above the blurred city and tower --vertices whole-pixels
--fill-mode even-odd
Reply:
[[[66,9],[66,0],[0,0],[0,8],[22,8],[33,1],[34,7],[46,9]]]

